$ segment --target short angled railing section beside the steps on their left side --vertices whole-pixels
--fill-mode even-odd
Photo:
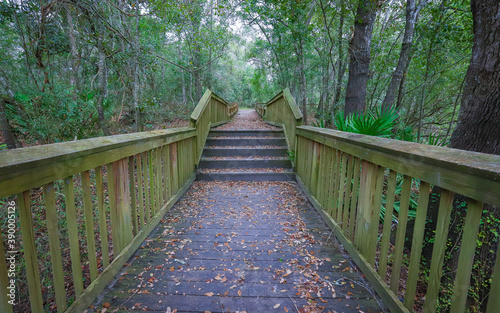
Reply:
[[[210,127],[228,122],[238,112],[238,104],[230,105],[211,90],[205,92],[191,113],[190,125],[197,130],[196,164],[198,164]]]

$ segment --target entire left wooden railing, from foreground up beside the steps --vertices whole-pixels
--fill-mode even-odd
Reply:
[[[89,307],[194,180],[200,126],[228,119],[205,100],[194,128],[0,152],[0,312]]]

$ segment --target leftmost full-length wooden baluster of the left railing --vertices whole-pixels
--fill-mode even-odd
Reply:
[[[23,238],[24,262],[28,277],[28,290],[32,312],[43,312],[42,287],[36,255],[33,217],[31,214],[30,191],[17,195],[19,201],[19,219],[21,220],[21,235]]]

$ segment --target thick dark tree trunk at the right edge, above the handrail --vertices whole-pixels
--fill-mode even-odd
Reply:
[[[474,45],[451,147],[500,154],[500,2],[471,1]],[[496,14],[496,15],[495,15]]]

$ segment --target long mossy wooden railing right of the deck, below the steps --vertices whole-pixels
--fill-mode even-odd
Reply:
[[[391,312],[413,311],[415,301],[424,303],[424,312],[436,311],[440,290],[447,288],[441,281],[453,222],[450,214],[459,201],[454,196],[462,195],[458,199],[462,206],[466,203],[467,213],[457,245],[460,252],[450,311],[466,311],[483,209],[485,204],[500,207],[500,156],[308,126],[297,127],[296,134],[299,184]],[[407,229],[410,201],[416,203],[413,230]],[[435,201],[434,206],[430,201]],[[434,223],[430,215],[437,216]],[[430,267],[422,260],[424,233],[435,234],[427,259]],[[428,269],[426,280],[421,280],[423,269]],[[487,313],[500,308],[498,260],[493,275]],[[400,286],[401,279],[405,288]],[[418,295],[417,283],[425,287]],[[426,290],[424,295],[422,290]]]

